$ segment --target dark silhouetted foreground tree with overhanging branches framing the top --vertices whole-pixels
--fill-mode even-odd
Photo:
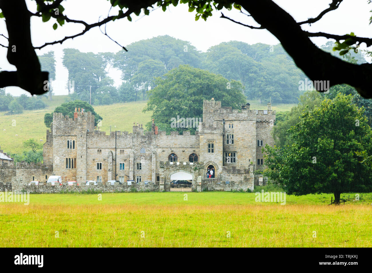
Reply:
[[[296,20],[273,0],[261,1],[227,1],[227,0],[110,0],[113,7],[119,7],[118,14],[107,16],[99,22],[87,23],[83,20],[70,19],[64,13],[62,0],[34,0],[36,12],[28,10],[25,0],[0,1],[0,17],[4,17],[9,35],[8,45],[1,45],[8,48],[7,59],[10,64],[15,65],[16,71],[0,72],[0,88],[6,86],[18,86],[31,94],[43,94],[44,82],[48,80],[48,72],[41,71],[41,66],[35,49],[44,48],[47,45],[63,43],[65,40],[73,39],[84,35],[94,27],[100,27],[112,20],[127,18],[131,21],[131,14],[145,15],[150,14],[154,6],[159,6],[166,11],[170,4],[176,6],[178,3],[187,4],[189,12],[196,12],[195,19],[206,20],[212,16],[214,10],[220,11],[223,8],[230,10],[232,7],[240,10],[249,18],[253,18],[258,26],[247,25],[237,22],[225,16],[221,12],[221,17],[234,23],[246,26],[250,29],[266,29],[271,32],[282,44],[285,51],[294,59],[295,64],[305,72],[313,81],[329,80],[330,86],[336,84],[349,84],[356,88],[360,95],[365,98],[372,97],[370,86],[372,83],[372,64],[350,64],[330,53],[319,49],[311,40],[311,37],[325,37],[336,40],[335,49],[341,55],[350,50],[357,51],[360,43],[366,43],[367,47],[372,45],[371,38],[358,37],[353,32],[345,35],[335,35],[325,32],[308,32],[301,28],[302,25],[318,22],[328,12],[338,9],[342,0],[330,0],[329,7],[321,11],[318,16],[296,22]],[[369,0],[369,3],[372,1]],[[65,22],[83,26],[83,30],[76,34],[65,36],[64,38],[52,42],[45,42],[41,46],[33,46],[31,42],[30,17],[41,17],[43,22],[56,20],[54,29],[58,25],[62,26]],[[370,19],[370,22],[372,19]],[[104,35],[107,35],[105,32]],[[294,37],[296,43],[293,42]],[[298,49],[301,45],[301,50]],[[15,51],[16,48],[16,51]],[[126,48],[123,46],[126,50]],[[307,58],[304,58],[303,55]],[[311,59],[312,62],[308,62]]]

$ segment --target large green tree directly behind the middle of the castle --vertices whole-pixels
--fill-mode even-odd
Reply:
[[[227,80],[221,75],[180,65],[155,79],[157,85],[148,91],[149,99],[144,111],[153,111],[156,123],[170,124],[171,118],[199,118],[203,114],[203,100],[221,101],[222,105],[240,108],[246,103],[243,85],[235,80]],[[147,124],[148,125],[148,124]],[[151,126],[147,127],[151,130]],[[183,128],[179,131],[195,128]]]

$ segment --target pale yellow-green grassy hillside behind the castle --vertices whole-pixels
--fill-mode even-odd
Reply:
[[[22,142],[35,138],[45,143],[47,127],[44,124],[45,113],[51,113],[55,107],[65,102],[67,95],[53,96],[52,101],[47,98],[42,100],[48,104],[47,109],[24,111],[23,114],[5,116],[6,112],[0,112],[0,146],[5,152],[21,153]],[[266,104],[259,101],[249,101],[251,109],[267,109]],[[111,105],[94,105],[94,110],[102,117],[101,131],[109,134],[111,130],[132,132],[133,122],[145,124],[151,121],[151,113],[142,113],[146,101],[131,103],[116,103]],[[295,104],[273,105],[272,109],[277,111],[288,111]],[[15,126],[13,126],[15,125]],[[116,127],[115,127],[116,126]],[[5,130],[4,130],[5,129]],[[17,136],[16,136],[17,135]]]

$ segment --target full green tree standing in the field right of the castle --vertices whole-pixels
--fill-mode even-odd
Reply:
[[[341,94],[303,111],[288,130],[291,145],[264,147],[264,175],[288,194],[333,193],[335,204],[341,193],[370,192],[372,130],[363,112]]]

